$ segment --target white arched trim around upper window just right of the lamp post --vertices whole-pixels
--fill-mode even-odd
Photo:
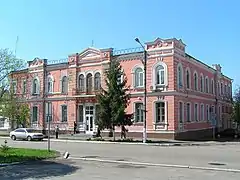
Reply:
[[[164,84],[163,84],[163,86],[168,86],[168,68],[167,68],[167,65],[164,62],[160,61],[160,62],[154,64],[153,67],[152,67],[152,72],[153,72],[152,73],[152,86],[153,86],[154,90],[157,87],[157,82],[156,82],[156,79],[157,79],[156,78],[156,74],[157,74],[157,72],[156,72],[156,68],[159,65],[163,66],[163,68],[164,68]]]

